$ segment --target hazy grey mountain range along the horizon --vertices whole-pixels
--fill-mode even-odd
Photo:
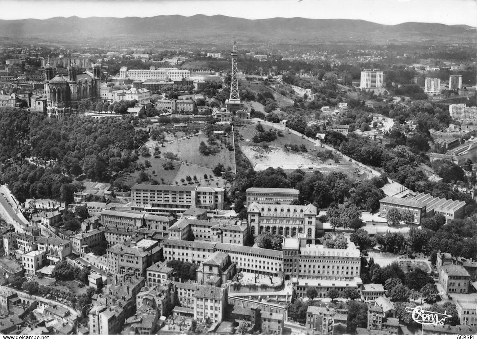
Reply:
[[[476,43],[470,26],[407,22],[381,25],[364,20],[273,18],[248,20],[222,15],[179,15],[151,18],[57,17],[46,20],[0,20],[0,37],[80,40],[181,40],[229,44],[326,43]]]

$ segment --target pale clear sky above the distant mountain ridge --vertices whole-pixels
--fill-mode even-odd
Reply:
[[[0,0],[0,19],[226,15],[245,19],[361,19],[477,27],[477,0]]]

